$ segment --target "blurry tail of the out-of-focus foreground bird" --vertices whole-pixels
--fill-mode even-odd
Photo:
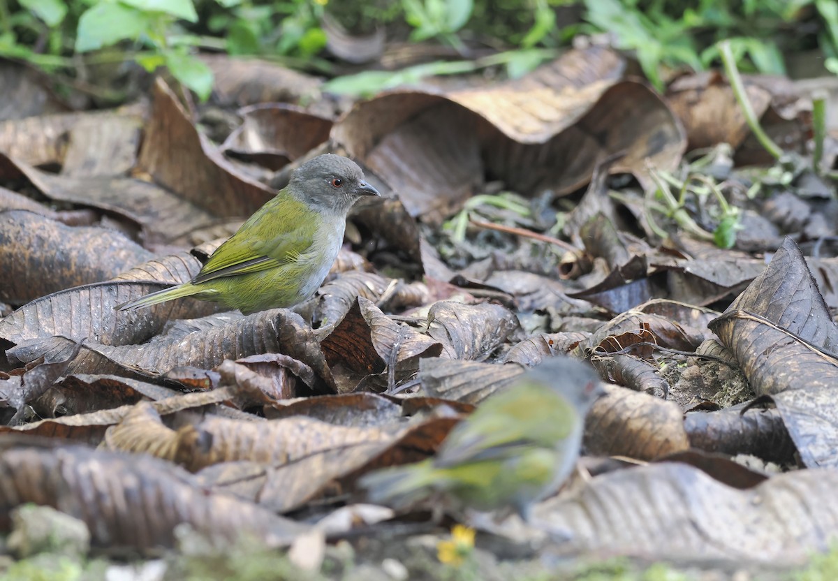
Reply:
[[[427,459],[418,464],[384,468],[370,472],[359,480],[367,491],[367,499],[375,504],[407,506],[429,495],[437,480],[438,469]]]

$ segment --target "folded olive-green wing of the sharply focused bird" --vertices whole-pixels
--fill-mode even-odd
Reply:
[[[311,245],[312,227],[304,220],[297,220],[292,229],[284,232],[265,224],[259,232],[260,238],[254,239],[254,219],[270,220],[271,216],[262,212],[251,216],[239,231],[212,253],[201,272],[192,280],[193,284],[281,267],[296,261]]]

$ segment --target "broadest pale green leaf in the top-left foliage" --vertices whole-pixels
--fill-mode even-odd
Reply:
[[[101,49],[120,40],[137,39],[151,26],[150,17],[116,3],[98,3],[79,18],[75,37],[76,52]]]

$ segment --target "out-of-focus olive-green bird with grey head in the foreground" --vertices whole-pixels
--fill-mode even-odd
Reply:
[[[462,507],[510,507],[525,521],[558,490],[579,457],[585,416],[604,394],[582,361],[548,359],[489,397],[448,434],[436,456],[380,469],[360,486],[378,504],[406,506],[435,493]]]

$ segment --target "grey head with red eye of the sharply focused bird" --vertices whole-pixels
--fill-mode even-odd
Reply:
[[[288,188],[297,199],[346,214],[363,195],[364,172],[349,158],[326,153],[308,160],[291,175]]]

